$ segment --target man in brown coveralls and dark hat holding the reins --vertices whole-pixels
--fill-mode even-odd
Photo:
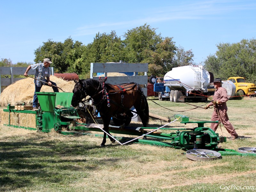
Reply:
[[[223,88],[222,82],[220,78],[216,78],[213,81],[214,88],[216,91],[213,95],[213,101],[210,102],[204,109],[208,109],[210,106],[214,106],[214,111],[212,113],[211,121],[219,121],[224,125],[227,129],[228,133],[232,136],[231,140],[235,140],[238,138],[236,130],[233,125],[228,120],[228,108],[226,102],[228,101],[227,90]],[[218,123],[211,123],[211,129],[215,132],[218,128]]]

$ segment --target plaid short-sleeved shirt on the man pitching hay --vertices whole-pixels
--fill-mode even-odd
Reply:
[[[31,65],[31,69],[35,70],[36,69],[36,73],[35,73],[35,78],[41,81],[44,81],[45,77],[50,77],[50,68],[49,67],[44,67],[44,63],[36,63]],[[37,86],[41,86],[42,82],[36,80],[34,81],[34,83]],[[45,83],[43,83],[45,85]]]

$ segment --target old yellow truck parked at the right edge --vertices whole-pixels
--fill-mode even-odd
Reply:
[[[236,92],[240,92],[243,95],[256,93],[255,84],[246,83],[244,77],[229,77],[228,80],[232,81],[236,85]]]

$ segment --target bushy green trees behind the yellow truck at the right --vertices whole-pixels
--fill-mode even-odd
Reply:
[[[220,43],[215,55],[204,61],[207,70],[213,69],[214,76],[228,79],[230,76],[242,76],[248,82],[256,77],[256,40],[243,39],[238,43]]]

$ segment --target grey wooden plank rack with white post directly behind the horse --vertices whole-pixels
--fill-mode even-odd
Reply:
[[[111,72],[133,72],[133,76],[108,77],[108,73]],[[144,72],[144,75],[137,76],[137,72]],[[147,96],[148,63],[91,63],[90,78],[99,79],[99,77],[96,76],[96,73],[104,73],[105,76],[108,77],[106,83],[109,84],[123,84],[135,82],[144,85],[143,92]]]

